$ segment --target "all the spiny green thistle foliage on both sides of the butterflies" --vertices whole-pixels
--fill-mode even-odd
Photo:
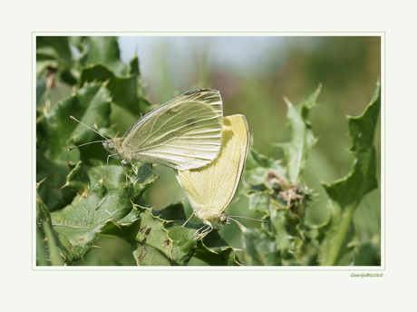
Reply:
[[[126,179],[120,162],[111,159],[107,166],[108,153],[100,143],[68,151],[102,140],[70,115],[114,137],[115,108],[134,119],[150,111],[136,56],[121,63],[115,37],[37,37],[36,57],[37,265],[84,260],[99,237],[125,240],[138,266],[184,266],[193,258],[215,266],[380,264],[378,241],[359,246],[352,221],[360,201],[377,188],[373,137],[379,85],[364,114],[348,118],[351,171],[344,179],[322,182],[329,196],[323,224],[306,221],[314,193],[303,184],[317,141],[308,114],[321,87],[297,105],[286,100],[291,140],[277,144],[285,164],[253,148],[248,152],[240,191],[267,224],[244,229],[240,251],[218,229],[199,240],[202,223],[189,221],[181,228],[187,219],[181,202],[150,208],[145,200],[155,181],[150,163],[125,166]],[[70,85],[72,92],[53,102],[52,90],[60,84]]]

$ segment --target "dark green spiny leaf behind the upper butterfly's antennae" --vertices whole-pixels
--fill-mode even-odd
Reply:
[[[91,144],[82,147],[80,151],[68,151],[75,144],[102,139],[78,122],[70,119],[70,115],[78,117],[87,124],[98,121],[104,127],[110,125],[110,94],[102,83],[85,84],[78,93],[71,98],[59,102],[37,119],[36,122],[36,180],[48,178],[41,184],[39,195],[50,210],[62,209],[68,205],[75,196],[69,188],[62,187],[68,182],[65,177],[70,170],[80,173],[80,168],[74,168],[72,162],[78,162],[81,157],[88,170],[92,165],[102,165],[107,160],[108,152],[101,144]],[[103,128],[105,132],[106,128]],[[122,169],[121,169],[122,170]],[[102,177],[101,173],[94,175],[93,181]],[[122,173],[121,173],[122,174]],[[91,174],[90,174],[91,175]],[[80,178],[78,175],[77,179]],[[91,177],[92,178],[92,177]],[[90,179],[91,179],[90,178]],[[76,190],[83,193],[87,187],[86,175],[83,176],[84,185],[77,185]],[[83,188],[83,190],[82,190]]]

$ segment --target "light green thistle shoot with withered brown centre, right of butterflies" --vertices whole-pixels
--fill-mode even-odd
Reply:
[[[311,200],[311,190],[297,184],[315,137],[308,113],[315,106],[320,93],[315,93],[298,105],[287,102],[287,119],[292,132],[291,141],[280,144],[286,155],[286,167],[249,150],[245,168],[244,192],[249,197],[249,208],[266,215],[267,226],[260,232],[246,232],[243,236],[249,263],[256,265],[303,265],[315,261],[315,253],[305,247],[305,206]],[[248,185],[247,185],[248,184]],[[254,239],[251,242],[250,239]],[[265,245],[257,241],[265,239]],[[259,248],[259,249],[257,249]],[[271,253],[265,255],[264,253]],[[312,258],[305,255],[308,252]],[[269,259],[270,257],[273,260]]]

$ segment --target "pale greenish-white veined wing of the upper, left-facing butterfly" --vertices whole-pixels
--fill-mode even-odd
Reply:
[[[222,124],[223,103],[217,90],[184,93],[131,126],[122,138],[123,159],[181,171],[205,166],[218,156]]]

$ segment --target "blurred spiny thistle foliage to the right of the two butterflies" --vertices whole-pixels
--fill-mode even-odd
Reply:
[[[319,91],[320,87],[297,106],[288,102],[293,136],[280,144],[286,167],[257,151],[249,153],[244,191],[249,195],[249,208],[264,213],[268,220],[263,229],[243,233],[245,262],[249,265],[380,265],[376,244],[365,243],[358,250],[352,220],[360,200],[378,187],[373,138],[381,106],[380,85],[365,112],[347,119],[354,165],[344,179],[322,182],[330,198],[329,218],[315,225],[305,222],[312,190],[296,183],[316,141],[307,116]]]

